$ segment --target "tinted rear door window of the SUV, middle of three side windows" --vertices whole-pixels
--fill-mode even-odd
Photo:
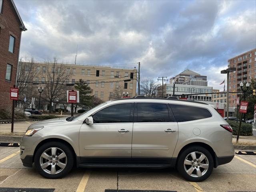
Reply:
[[[169,111],[166,104],[138,103],[137,122],[169,122]]]

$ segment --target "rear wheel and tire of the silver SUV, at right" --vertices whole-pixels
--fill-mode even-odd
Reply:
[[[195,156],[196,162],[194,161],[195,158],[193,158]],[[192,161],[192,159],[194,160]],[[182,177],[188,181],[200,182],[206,180],[212,173],[213,166],[214,160],[212,155],[206,148],[201,146],[186,148],[178,157],[177,169]]]

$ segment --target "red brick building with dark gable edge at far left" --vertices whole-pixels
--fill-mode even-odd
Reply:
[[[13,0],[0,0],[0,108],[10,108],[10,87],[16,72],[22,31],[26,31]]]

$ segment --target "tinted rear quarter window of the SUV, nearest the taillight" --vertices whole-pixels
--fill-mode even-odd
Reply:
[[[212,117],[210,111],[206,108],[169,104],[177,122],[194,121]]]

